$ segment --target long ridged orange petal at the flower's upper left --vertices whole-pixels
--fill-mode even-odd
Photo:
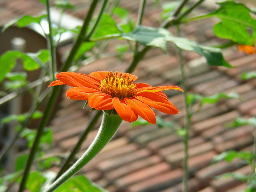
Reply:
[[[61,72],[56,75],[57,79],[71,87],[90,87],[97,89],[95,84],[100,84],[92,77],[74,72]]]

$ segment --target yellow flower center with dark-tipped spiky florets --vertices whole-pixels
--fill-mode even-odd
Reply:
[[[126,74],[122,76],[122,73],[120,73],[117,76],[117,71],[115,73],[108,72],[105,79],[100,82],[100,90],[112,97],[120,99],[130,98],[134,96],[136,87],[132,82],[133,78],[131,79],[130,76],[126,77]]]

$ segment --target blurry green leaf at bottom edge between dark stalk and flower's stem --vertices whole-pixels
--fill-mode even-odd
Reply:
[[[40,192],[41,188],[44,185],[46,178],[44,175],[38,171],[29,173],[28,181],[26,183],[26,187],[31,192]]]

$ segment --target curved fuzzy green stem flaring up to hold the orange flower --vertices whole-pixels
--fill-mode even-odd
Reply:
[[[44,192],[52,192],[57,189],[61,184],[72,177],[76,172],[84,167],[94,156],[96,156],[100,150],[111,140],[120,126],[122,119],[119,116],[108,116],[103,113],[100,129],[92,141],[92,144],[85,151],[85,153],[72,165],[59,179],[57,179],[52,185],[44,190]]]

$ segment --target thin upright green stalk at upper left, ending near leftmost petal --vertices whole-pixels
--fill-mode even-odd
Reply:
[[[50,3],[49,0],[45,1],[46,3],[46,10],[47,10],[47,20],[48,20],[48,26],[49,26],[49,34],[47,34],[48,37],[48,47],[51,52],[51,79],[54,80],[54,74],[56,72],[56,54],[55,54],[55,45],[54,45],[54,38],[52,34],[52,22],[51,22],[51,12],[50,12]]]

